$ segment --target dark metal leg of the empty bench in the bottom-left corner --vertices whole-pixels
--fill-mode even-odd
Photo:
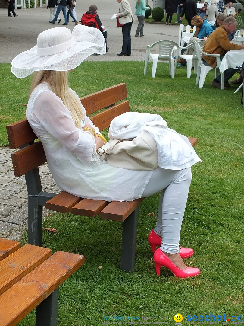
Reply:
[[[57,326],[59,288],[36,307],[35,326]]]

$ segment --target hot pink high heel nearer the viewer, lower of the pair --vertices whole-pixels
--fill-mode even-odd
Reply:
[[[158,276],[160,276],[160,267],[164,266],[167,267],[176,277],[180,278],[187,278],[187,277],[193,277],[200,274],[200,270],[198,268],[189,267],[186,266],[185,270],[182,270],[178,267],[176,267],[172,261],[162,252],[160,248],[158,248],[154,255],[153,260],[155,262],[156,267],[156,273]]]

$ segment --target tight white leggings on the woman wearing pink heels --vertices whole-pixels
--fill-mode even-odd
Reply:
[[[142,197],[148,197],[161,191],[154,230],[162,236],[161,250],[170,254],[179,252],[181,224],[191,177],[191,168],[165,170],[158,167],[142,194]]]

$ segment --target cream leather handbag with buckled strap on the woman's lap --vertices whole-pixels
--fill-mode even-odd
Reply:
[[[132,140],[113,139],[97,149],[100,159],[128,170],[154,170],[158,167],[156,141],[146,130]]]

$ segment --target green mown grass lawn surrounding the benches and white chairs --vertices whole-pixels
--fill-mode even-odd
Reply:
[[[168,317],[169,325],[180,313],[183,326],[188,315],[244,315],[241,92],[211,86],[213,70],[198,89],[193,71],[191,79],[186,78],[186,68],[177,68],[174,79],[164,63],[158,64],[154,79],[152,63],[146,76],[143,69],[143,62],[84,62],[70,73],[69,81],[79,96],[126,82],[132,111],[161,114],[170,128],[199,138],[195,149],[203,162],[192,167],[180,244],[194,249],[186,264],[200,268],[201,274],[178,279],[162,268],[156,276],[147,235],[156,222],[148,214],[157,215],[159,194],[140,205],[132,274],[119,270],[121,223],[51,214],[44,226],[58,233],[44,231],[44,245],[53,252],[85,256],[85,264],[60,287],[59,326],[103,325],[104,311],[117,311],[105,316]],[[18,80],[9,64],[0,65],[0,76],[0,144],[7,146],[5,126],[25,117],[30,78]],[[34,325],[34,312],[20,325]]]

